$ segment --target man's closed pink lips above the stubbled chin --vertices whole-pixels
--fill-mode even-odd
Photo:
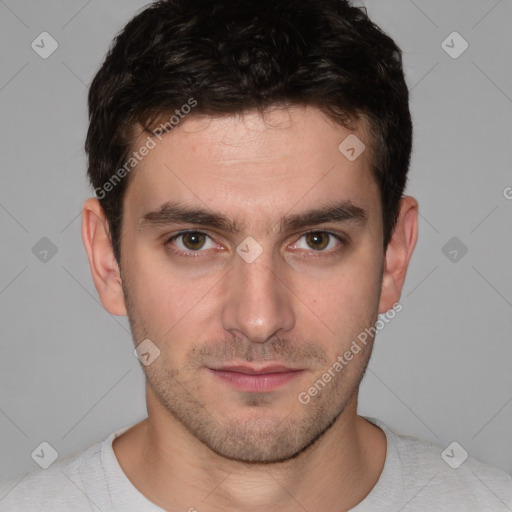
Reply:
[[[238,391],[264,393],[274,391],[290,381],[298,378],[305,370],[290,368],[282,365],[266,366],[222,366],[208,368],[208,371],[217,379],[228,384]]]

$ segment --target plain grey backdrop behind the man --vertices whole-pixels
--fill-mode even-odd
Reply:
[[[127,320],[100,305],[80,237],[87,86],[146,3],[0,0],[2,481],[37,469],[42,441],[63,458],[146,415]],[[512,1],[365,4],[404,50],[421,218],[360,411],[512,472]],[[59,44],[47,59],[31,48],[43,31]],[[469,43],[457,59],[441,46],[453,31]]]

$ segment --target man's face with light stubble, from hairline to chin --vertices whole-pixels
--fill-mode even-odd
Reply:
[[[296,456],[364,373],[371,342],[307,393],[379,312],[380,194],[369,149],[338,149],[350,134],[312,107],[191,117],[132,176],[121,269],[134,340],[160,350],[148,410],[222,456]]]

